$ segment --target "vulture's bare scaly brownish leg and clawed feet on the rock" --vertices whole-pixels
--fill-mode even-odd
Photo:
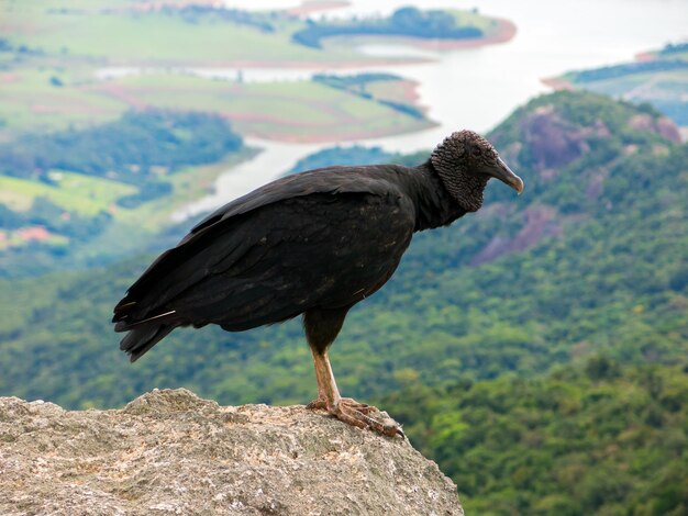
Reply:
[[[311,348],[311,351],[318,381],[318,399],[309,403],[309,408],[323,408],[337,419],[358,428],[370,428],[390,437],[397,434],[403,436],[401,428],[396,423],[384,424],[370,417],[369,414],[377,411],[374,406],[358,403],[351,397],[342,397],[332,373],[328,351],[321,352],[314,348]]]

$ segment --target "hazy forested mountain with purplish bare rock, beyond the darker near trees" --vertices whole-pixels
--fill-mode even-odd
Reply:
[[[490,184],[477,215],[414,238],[333,348],[344,392],[378,395],[410,371],[429,385],[529,375],[600,352],[624,363],[683,360],[687,149],[653,128],[661,120],[561,92],[496,128],[490,137],[525,192]],[[232,403],[309,399],[298,322],[242,334],[181,329],[126,364],[110,312],[151,258],[4,281],[0,330],[13,359],[0,366],[0,392],[71,407],[115,405],[160,383]]]

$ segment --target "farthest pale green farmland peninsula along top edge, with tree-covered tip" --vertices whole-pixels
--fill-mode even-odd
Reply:
[[[143,4],[141,4],[143,3]],[[209,5],[173,5],[114,0],[73,2],[8,1],[0,42],[0,64],[27,56],[85,63],[147,66],[212,66],[228,63],[374,63],[352,47],[328,53],[319,40],[351,34],[340,25],[300,20],[281,11],[247,12]],[[493,20],[467,11],[399,9],[386,20],[360,23],[369,33],[413,37],[480,37]],[[31,26],[29,34],[26,26]],[[348,26],[349,29],[345,29]],[[346,32],[348,31],[348,32]],[[149,42],[155,41],[155,45]]]

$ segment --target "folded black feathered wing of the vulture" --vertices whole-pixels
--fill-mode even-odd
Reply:
[[[132,285],[115,329],[159,317],[242,330],[371,294],[408,247],[415,213],[370,172],[303,173],[223,206]]]

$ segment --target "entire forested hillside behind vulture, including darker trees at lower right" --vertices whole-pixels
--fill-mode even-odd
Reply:
[[[591,93],[533,100],[490,136],[523,194],[493,181],[480,212],[418,235],[389,284],[352,311],[332,349],[341,390],[389,405],[468,512],[518,500],[522,514],[626,514],[631,502],[636,514],[683,514],[688,147],[673,128],[651,108]],[[154,386],[225,404],[313,397],[298,321],[177,330],[130,366],[109,319],[151,258],[0,282],[0,393],[70,407]],[[604,439],[586,437],[596,433]],[[543,480],[552,468],[556,482]]]

